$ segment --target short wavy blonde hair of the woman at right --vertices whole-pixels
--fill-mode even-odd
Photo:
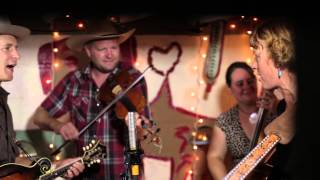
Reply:
[[[290,24],[283,20],[266,21],[252,33],[250,46],[257,49],[258,40],[266,43],[271,58],[278,67],[291,69],[295,60],[295,47],[294,32]]]

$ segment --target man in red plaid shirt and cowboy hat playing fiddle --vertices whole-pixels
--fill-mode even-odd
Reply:
[[[83,136],[79,137],[79,131],[103,109],[97,96],[104,82],[112,82],[112,77],[120,71],[127,71],[134,79],[141,75],[132,66],[121,62],[120,44],[126,41],[134,30],[119,33],[110,22],[106,24],[102,28],[95,26],[94,28],[100,31],[94,34],[91,32],[87,35],[75,35],[68,39],[67,46],[70,49],[85,52],[91,61],[86,67],[67,74],[32,117],[33,122],[40,128],[54,130],[65,140],[76,139],[79,151],[81,146],[93,138],[104,143],[107,147],[106,158],[100,165],[86,168],[82,176],[79,176],[86,179],[120,179],[120,174],[125,171],[127,127],[124,121],[115,116],[114,109],[105,113]],[[134,88],[147,97],[144,79]],[[149,115],[148,106],[144,107],[144,115]],[[145,116],[142,116],[142,119],[147,122]],[[139,125],[141,128],[141,124]]]

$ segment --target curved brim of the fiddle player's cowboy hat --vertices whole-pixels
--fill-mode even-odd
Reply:
[[[128,32],[122,34],[108,34],[104,35],[103,33],[95,34],[95,35],[76,35],[70,37],[66,44],[67,46],[74,51],[81,52],[86,43],[90,41],[104,40],[104,39],[119,39],[119,43],[123,43],[126,41],[133,33],[135,29],[131,29]]]

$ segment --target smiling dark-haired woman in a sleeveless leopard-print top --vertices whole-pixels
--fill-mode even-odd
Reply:
[[[257,82],[253,69],[245,62],[232,63],[226,72],[226,83],[237,104],[222,113],[213,127],[207,154],[209,170],[214,179],[222,179],[250,151],[256,125],[250,115],[259,106],[269,109],[263,127],[272,119],[275,96],[266,92],[263,101],[257,97]]]

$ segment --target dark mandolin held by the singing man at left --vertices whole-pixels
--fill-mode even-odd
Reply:
[[[92,140],[83,147],[83,156],[57,169],[51,168],[51,161],[48,158],[41,158],[32,166],[24,166],[16,163],[8,163],[0,166],[1,180],[47,180],[65,174],[72,164],[81,161],[87,167],[94,163],[100,163],[105,157],[106,147],[100,141]]]

